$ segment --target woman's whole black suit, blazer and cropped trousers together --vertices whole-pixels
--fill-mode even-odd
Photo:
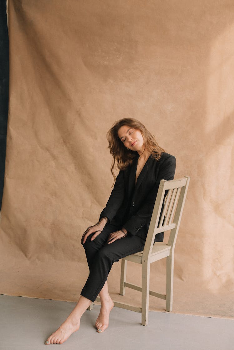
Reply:
[[[90,274],[81,295],[94,301],[104,286],[113,262],[144,249],[147,231],[157,197],[160,180],[173,180],[175,157],[162,153],[159,161],[149,157],[140,172],[135,186],[139,155],[131,166],[120,171],[106,207],[100,218],[106,216],[109,224],[91,241],[92,235],[83,244]],[[110,233],[124,227],[126,237],[106,244]],[[163,241],[163,233],[155,241]]]

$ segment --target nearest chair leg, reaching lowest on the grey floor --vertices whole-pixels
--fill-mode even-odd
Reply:
[[[142,264],[142,325],[147,326],[149,317],[150,264]]]

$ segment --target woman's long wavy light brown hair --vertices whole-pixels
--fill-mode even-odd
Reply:
[[[110,149],[110,154],[113,156],[111,173],[114,177],[114,182],[116,180],[114,169],[125,170],[136,156],[136,152],[127,149],[118,137],[118,130],[123,125],[137,129],[142,133],[145,149],[150,152],[153,158],[159,160],[161,153],[165,152],[156,142],[154,135],[152,135],[139,120],[134,118],[117,120],[106,134],[106,138],[109,142],[108,148]]]

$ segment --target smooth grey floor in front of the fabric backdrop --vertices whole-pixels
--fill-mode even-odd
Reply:
[[[233,350],[234,321],[223,318],[150,312],[149,325],[141,315],[113,308],[110,325],[98,334],[95,321],[99,306],[85,311],[80,330],[62,345],[44,345],[64,321],[75,303],[0,295],[0,349],[41,350]],[[49,348],[46,348],[49,346]]]

